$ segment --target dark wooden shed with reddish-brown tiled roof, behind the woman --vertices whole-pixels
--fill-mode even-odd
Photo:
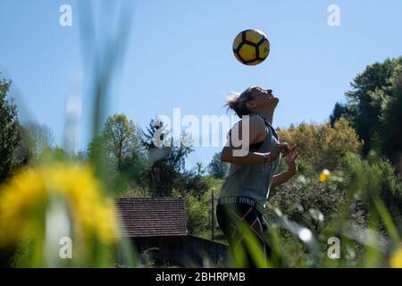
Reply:
[[[144,263],[202,266],[208,257],[224,264],[226,244],[189,235],[184,198],[118,198],[121,236],[130,238]]]

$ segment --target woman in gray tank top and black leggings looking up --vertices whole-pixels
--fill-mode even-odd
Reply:
[[[216,214],[240,267],[264,267],[273,258],[264,206],[270,189],[297,173],[296,146],[281,143],[272,127],[278,103],[271,89],[250,87],[230,95],[227,104],[241,121],[230,130],[222,149],[222,162],[230,163],[230,171],[222,185]],[[281,154],[288,157],[288,170],[274,175]],[[264,262],[257,258],[258,253]]]

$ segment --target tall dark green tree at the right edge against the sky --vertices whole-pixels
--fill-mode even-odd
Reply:
[[[398,122],[384,122],[385,111],[394,101],[396,85],[402,72],[402,57],[388,59],[384,63],[373,63],[357,75],[351,83],[352,90],[346,93],[347,105],[335,105],[331,122],[347,117],[364,140],[364,154],[369,150],[387,153],[384,150],[384,135],[390,125]]]

